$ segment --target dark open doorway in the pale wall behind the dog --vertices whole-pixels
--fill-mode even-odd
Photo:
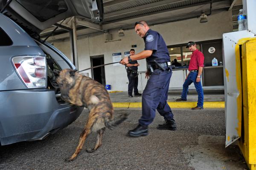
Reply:
[[[91,66],[99,66],[104,64],[104,55],[97,55],[90,57]],[[98,68],[91,69],[93,80],[98,81],[103,86],[106,85],[105,80],[105,67],[101,66]]]

